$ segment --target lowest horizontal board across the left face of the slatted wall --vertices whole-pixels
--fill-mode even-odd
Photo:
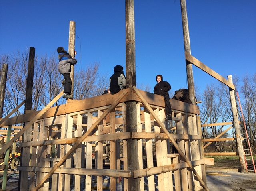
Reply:
[[[18,166],[19,171],[31,171],[31,172],[44,172],[49,173],[52,167],[25,167]],[[130,178],[130,170],[110,170],[110,169],[84,169],[84,168],[62,168],[59,167],[54,173],[61,174],[76,174],[76,175],[90,175],[90,176],[110,176],[110,177],[124,177]]]

